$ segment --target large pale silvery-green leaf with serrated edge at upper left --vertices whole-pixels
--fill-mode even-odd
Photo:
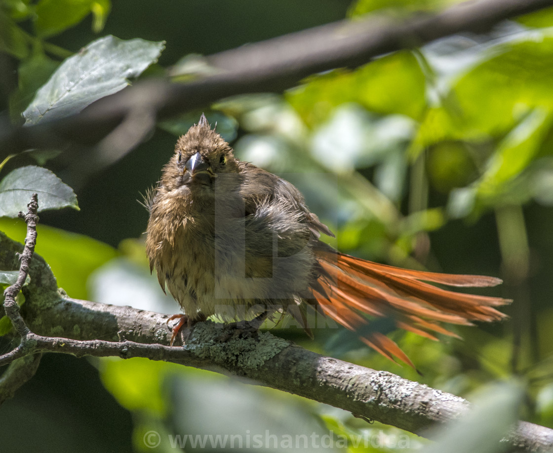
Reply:
[[[95,100],[122,90],[158,60],[165,43],[105,36],[67,58],[23,112],[25,124],[79,113]]]

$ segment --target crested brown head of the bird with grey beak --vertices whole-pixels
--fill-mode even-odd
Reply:
[[[175,154],[163,168],[161,185],[168,191],[212,190],[223,173],[238,173],[238,159],[223,138],[211,129],[205,115],[179,138]]]

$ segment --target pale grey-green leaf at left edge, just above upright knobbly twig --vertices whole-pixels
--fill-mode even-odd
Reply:
[[[42,167],[16,168],[0,181],[0,217],[17,217],[25,211],[33,193],[38,194],[39,211],[73,207],[79,210],[73,189]]]

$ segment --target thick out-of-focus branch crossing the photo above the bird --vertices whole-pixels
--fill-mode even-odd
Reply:
[[[137,109],[161,119],[231,95],[281,92],[316,72],[358,67],[388,52],[462,31],[482,33],[502,20],[547,6],[553,6],[553,0],[468,1],[403,21],[371,15],[241,46],[205,57],[205,73],[188,83],[150,79],[102,98],[77,115],[29,127],[4,126],[0,150],[6,151],[0,160],[3,153],[29,148],[97,142]]]

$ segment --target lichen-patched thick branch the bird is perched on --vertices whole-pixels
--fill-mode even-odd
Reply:
[[[20,247],[0,233],[0,268],[11,267],[9,256]],[[450,393],[389,372],[322,356],[268,332],[221,342],[218,338],[223,325],[203,322],[184,329],[187,338],[184,347],[169,347],[167,315],[71,299],[63,290],[56,289],[54,276],[39,255],[34,256],[29,274],[30,283],[23,287],[27,301],[22,313],[30,332],[15,350],[18,358],[61,352],[78,357],[140,356],[171,361],[248,377],[260,385],[331,404],[420,435],[425,435],[429,425],[449,422],[470,407],[465,399]],[[1,356],[0,364],[15,364],[14,358],[11,353]],[[8,390],[13,394],[15,389]],[[6,393],[0,392],[0,396]],[[549,451],[553,448],[553,430],[519,422],[507,441],[520,451]]]

